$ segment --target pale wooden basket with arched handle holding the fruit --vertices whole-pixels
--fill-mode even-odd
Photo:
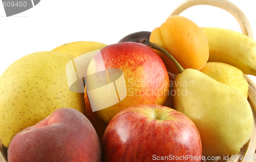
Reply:
[[[226,0],[188,0],[178,6],[169,16],[179,15],[182,11],[186,10],[189,7],[196,5],[209,5],[215,6],[221,9],[228,11],[232,14],[238,21],[242,33],[253,38],[251,26],[249,24],[248,19],[244,15],[244,13],[234,4],[230,3]],[[256,84],[248,77],[248,75],[244,75],[249,84],[248,90],[248,101],[251,105],[251,109],[253,112],[253,130],[251,134],[250,140],[245,144],[240,152],[237,155],[229,156],[228,160],[211,160],[211,161],[241,161],[241,162],[250,162],[256,161],[256,125],[255,125],[255,115],[256,115]],[[231,132],[230,132],[231,133]]]

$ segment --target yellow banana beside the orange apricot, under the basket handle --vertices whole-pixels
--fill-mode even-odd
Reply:
[[[201,29],[209,43],[208,62],[228,63],[256,76],[256,42],[252,38],[223,28]]]

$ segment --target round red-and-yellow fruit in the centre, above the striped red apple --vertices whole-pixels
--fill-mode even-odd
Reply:
[[[104,47],[90,62],[87,75],[89,101],[92,108],[103,106],[93,110],[106,123],[122,109],[164,105],[168,97],[166,67],[159,55],[142,43],[120,42]]]

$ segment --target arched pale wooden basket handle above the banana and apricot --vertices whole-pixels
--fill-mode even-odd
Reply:
[[[245,14],[234,4],[227,0],[188,0],[178,6],[169,16],[179,15],[182,11],[196,5],[209,5],[222,8],[232,14],[238,21],[242,33],[253,38],[252,30]]]

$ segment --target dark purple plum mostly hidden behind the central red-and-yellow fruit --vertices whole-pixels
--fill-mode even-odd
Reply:
[[[150,34],[151,32],[147,32],[147,31],[136,32],[136,33],[126,35],[118,42],[132,41],[132,42],[138,42],[138,43],[143,43],[148,45],[148,41],[150,41]]]

